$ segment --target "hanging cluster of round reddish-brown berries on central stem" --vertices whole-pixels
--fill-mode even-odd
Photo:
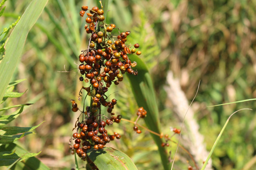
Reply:
[[[102,7],[101,9],[93,7],[88,10],[87,6],[82,6],[80,11],[81,17],[87,15],[85,19],[87,24],[84,28],[90,38],[88,48],[79,55],[81,62],[79,80],[90,82],[90,85],[82,87],[79,100],[82,90],[85,90],[86,96],[91,97],[91,105],[90,107],[83,106],[83,109],[80,110],[77,103],[71,100],[72,110],[74,112],[81,111],[82,121],[79,120],[80,115],[75,125],[76,132],[73,133],[73,138],[70,140],[70,149],[74,150],[83,160],[88,149],[102,149],[111,140],[121,137],[116,132],[109,135],[106,130],[106,127],[112,125],[113,122],[119,123],[122,116],[115,116],[115,113],[112,112],[117,100],[109,100],[105,93],[112,84],[118,85],[123,80],[123,74],[138,74],[137,70],[133,70],[137,63],[132,62],[127,54],[141,54],[140,51],[136,51],[139,47],[138,43],[126,44],[130,32],[120,33],[119,28],[114,24],[106,24],[103,14]],[[118,29],[118,36],[111,34],[114,29]],[[134,48],[130,49],[131,47]],[[101,106],[107,107],[108,113],[102,113]],[[141,117],[145,117],[145,111],[141,111]]]

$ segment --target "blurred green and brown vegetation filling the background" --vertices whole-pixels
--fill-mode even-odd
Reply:
[[[8,0],[0,29],[15,22],[29,2]],[[78,55],[87,46],[85,18],[79,12],[82,5],[93,7],[97,3],[97,0],[49,1],[28,34],[24,55],[12,77],[27,78],[17,91],[28,90],[8,104],[34,103],[13,124],[26,127],[46,120],[36,129],[36,135],[20,142],[30,152],[42,151],[38,158],[53,170],[74,167],[68,141],[78,115],[71,111],[70,99],[77,100],[82,85],[76,68]],[[140,57],[155,82],[158,99],[155,104],[159,106],[163,132],[172,134],[170,127],[181,127],[164,90],[166,74],[171,70],[180,79],[189,101],[201,80],[192,109],[208,150],[232,112],[253,109],[232,117],[212,163],[216,170],[255,169],[255,102],[206,106],[256,98],[256,0],[109,0],[109,3],[107,23],[114,23],[121,31],[130,30],[128,41],[140,44]],[[64,70],[70,72],[60,72]],[[118,100],[115,111],[135,120],[137,105],[128,81],[112,87],[111,93]],[[139,170],[162,169],[149,133],[143,131],[137,135],[132,127],[126,122],[114,125],[122,138],[109,146],[127,153]],[[175,149],[171,144],[172,156]],[[186,159],[179,157],[175,169],[185,169]]]

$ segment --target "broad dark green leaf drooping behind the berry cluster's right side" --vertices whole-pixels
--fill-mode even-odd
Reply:
[[[143,107],[147,111],[147,116],[144,118],[146,126],[150,130],[160,134],[159,112],[156,104],[155,91],[146,64],[136,55],[129,55],[129,59],[137,62],[137,66],[133,69],[138,71],[138,75],[128,75],[136,102],[139,107]],[[158,146],[164,169],[170,170],[167,151],[161,146],[162,139],[154,134],[151,135]]]

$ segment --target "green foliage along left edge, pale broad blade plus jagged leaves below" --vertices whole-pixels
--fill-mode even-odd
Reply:
[[[0,7],[4,4],[5,0],[3,0],[0,4]],[[44,5],[47,3],[47,0],[39,2],[38,0],[31,2],[31,4],[27,7],[27,10],[22,15],[22,17],[18,17],[18,20],[13,23],[9,28],[4,28],[3,32],[0,34],[4,35],[2,40],[4,40],[10,29],[14,26],[15,29],[13,30],[12,34],[9,36],[7,44],[5,46],[6,53],[4,59],[0,62],[0,101],[1,104],[5,102],[8,98],[18,98],[21,97],[24,93],[13,92],[14,85],[22,82],[22,80],[17,80],[14,82],[9,83],[11,76],[18,64],[19,56],[21,55],[24,43],[26,41],[26,36],[30,28],[35,24],[37,18],[41,14]],[[37,6],[39,8],[36,8]],[[1,9],[0,15],[3,14],[5,7]],[[39,9],[39,10],[38,10]],[[41,11],[40,11],[41,9]],[[35,12],[34,10],[38,10]],[[31,13],[34,13],[31,16]],[[20,20],[19,20],[20,19]],[[19,22],[18,22],[19,21]],[[5,42],[4,42],[5,43]],[[1,46],[0,52],[2,53],[4,50],[4,45]],[[34,127],[9,127],[7,126],[11,121],[16,119],[23,111],[25,105],[30,104],[19,104],[14,106],[7,106],[0,109],[0,166],[9,166],[8,169],[14,167],[18,161],[23,161],[27,158],[32,158],[39,153],[29,153],[18,145],[14,144],[15,141],[18,139],[31,134],[32,130],[37,128],[39,125]],[[11,114],[4,114],[7,110],[12,108],[19,107],[16,111]],[[26,161],[23,161],[26,164]],[[32,164],[31,164],[32,165]],[[30,166],[30,165],[29,165]],[[31,170],[36,170],[37,166],[32,166]]]

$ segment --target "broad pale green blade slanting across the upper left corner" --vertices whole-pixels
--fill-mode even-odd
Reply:
[[[5,45],[5,57],[0,63],[0,101],[17,67],[29,30],[41,15],[48,0],[33,0],[13,29]]]

